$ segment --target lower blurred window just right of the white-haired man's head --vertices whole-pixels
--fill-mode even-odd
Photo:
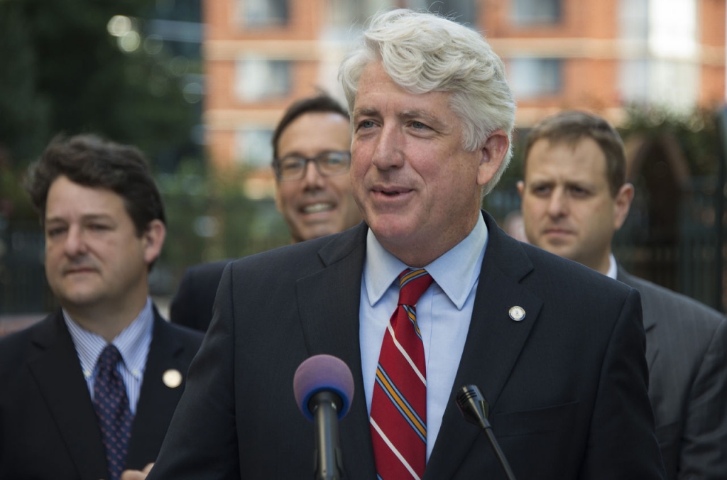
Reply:
[[[508,62],[515,98],[529,99],[561,92],[563,62],[557,58],[513,58]]]

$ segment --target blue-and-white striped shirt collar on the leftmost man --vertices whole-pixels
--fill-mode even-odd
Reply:
[[[73,345],[75,345],[81,361],[84,377],[89,377],[93,375],[98,357],[108,343],[100,335],[82,328],[76,321],[71,319],[71,316],[65,310],[63,310],[63,320],[68,327],[68,332],[71,333]],[[154,313],[151,299],[147,297],[146,304],[137,318],[111,341],[119,349],[126,369],[137,380],[142,377],[144,372],[146,356],[142,355],[142,353],[145,348],[148,348],[154,326],[153,320]]]

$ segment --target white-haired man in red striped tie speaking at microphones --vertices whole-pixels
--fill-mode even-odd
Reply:
[[[340,78],[365,222],[225,268],[150,479],[310,475],[313,425],[292,384],[321,353],[353,373],[346,479],[502,478],[455,405],[462,385],[489,400],[518,478],[664,478],[638,292],[511,239],[480,209],[515,119],[486,41],[382,12]]]

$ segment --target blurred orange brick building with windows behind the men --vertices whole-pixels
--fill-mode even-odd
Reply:
[[[562,108],[616,124],[630,103],[688,111],[725,97],[724,0],[206,0],[204,124],[218,167],[260,167],[267,196],[271,130],[292,100],[326,89],[378,9],[435,9],[483,32],[505,60],[518,127]]]

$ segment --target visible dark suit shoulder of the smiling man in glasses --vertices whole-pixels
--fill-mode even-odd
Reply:
[[[169,306],[169,321],[206,332],[222,271],[232,260],[200,263],[185,271],[177,295]]]

